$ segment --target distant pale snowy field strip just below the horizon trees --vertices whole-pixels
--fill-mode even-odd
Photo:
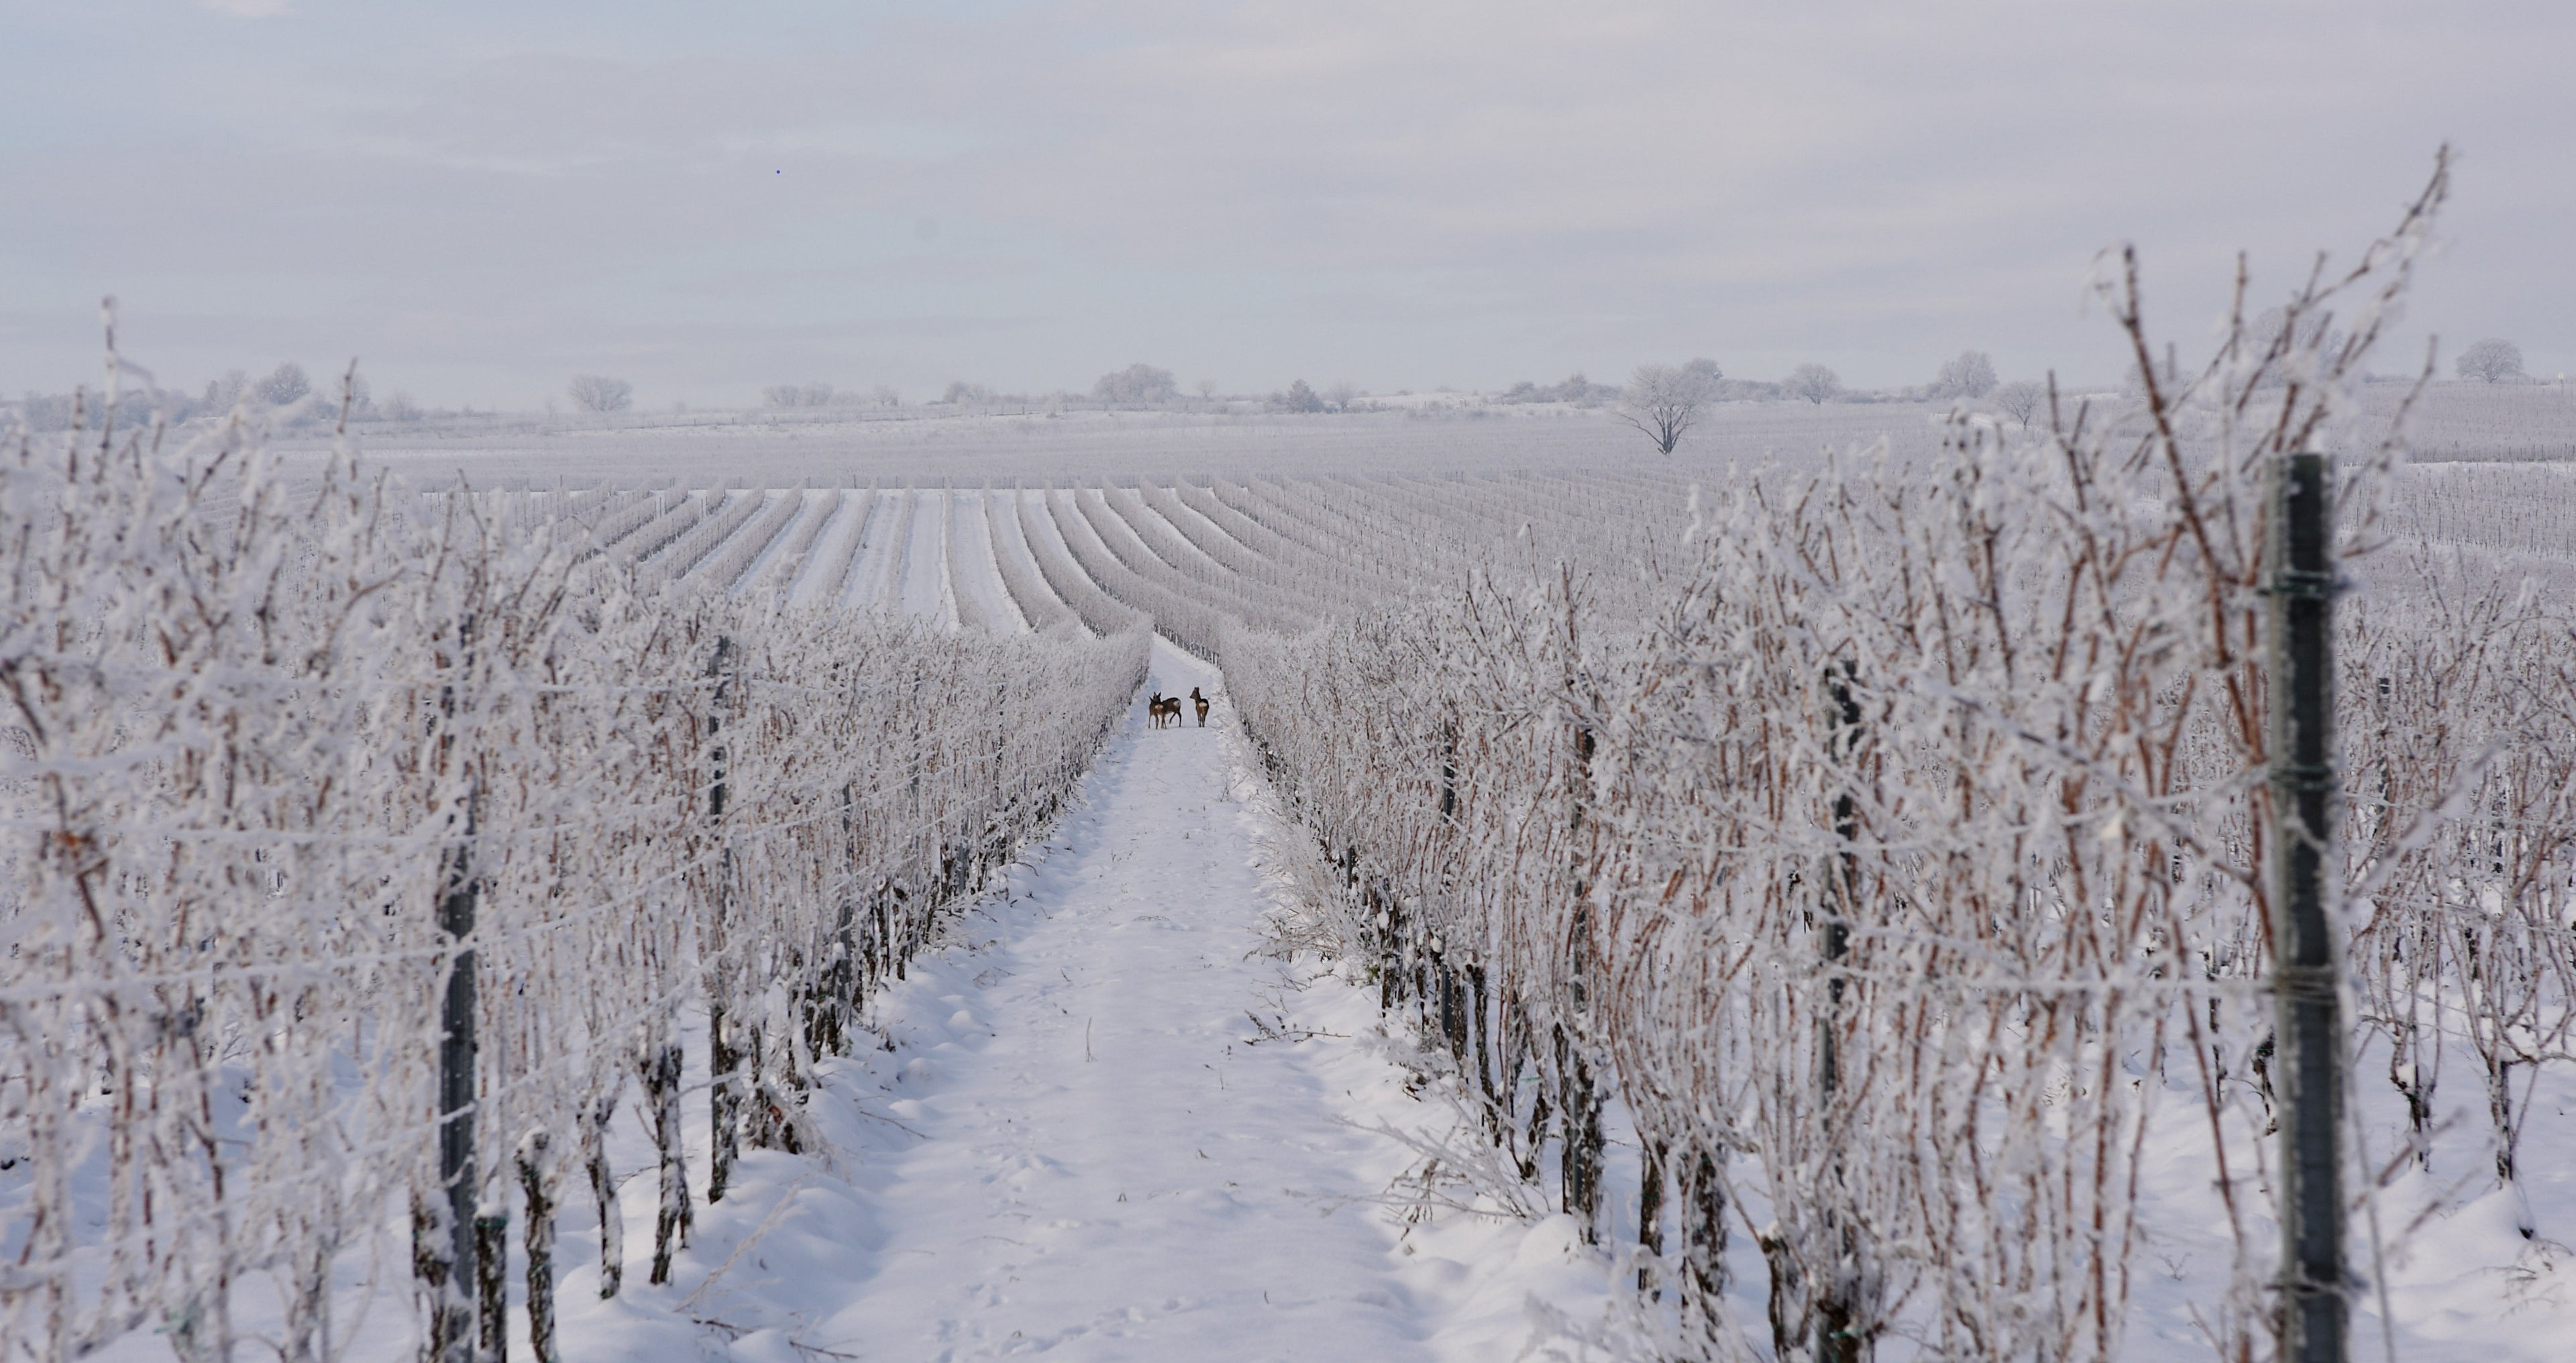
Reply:
[[[2362,392],[2385,423],[2406,384]],[[2069,394],[2074,402],[2120,394]],[[1886,441],[1899,459],[1940,448],[1947,402],[1723,402],[1664,459],[1610,407],[1564,402],[1497,405],[1473,394],[1394,399],[1381,412],[703,412],[618,417],[477,417],[386,425],[366,448],[407,477],[464,474],[477,487],[549,487],[608,479],[616,487],[917,484],[979,487],[984,479],[1090,477],[1283,477],[1283,474],[1461,474],[1546,469],[1685,469],[1801,464],[1819,451]],[[2434,384],[2409,425],[2421,459],[2576,461],[2576,389],[2532,384]],[[281,441],[312,456],[314,441]]]

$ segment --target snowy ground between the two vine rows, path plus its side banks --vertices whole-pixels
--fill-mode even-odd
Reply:
[[[1216,670],[1157,642],[1151,685]],[[1466,1360],[1600,1317],[1566,1219],[1378,1203],[1412,1157],[1370,1129],[1443,1108],[1368,992],[1265,953],[1280,830],[1229,719],[1149,729],[1139,698],[1056,837],[881,995],[889,1049],[827,1064],[832,1149],[747,1152],[667,1288],[634,1180],[629,1288],[567,1278],[564,1355]]]

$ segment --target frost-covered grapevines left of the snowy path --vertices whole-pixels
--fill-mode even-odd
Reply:
[[[425,1304],[459,1301],[433,1085],[464,951],[507,982],[477,1002],[469,1206],[518,1190],[533,1257],[572,1152],[616,1221],[600,1129],[629,1085],[711,1082],[744,1141],[806,1141],[814,1062],[1048,827],[1144,670],[1133,631],[943,634],[683,580],[757,492],[402,490],[348,451],[294,482],[245,420],[5,451],[8,1358],[144,1327],[224,1358],[247,1275],[281,1283],[289,1358],[332,1358],[335,1263],[417,1263]],[[639,567],[659,549],[688,562]],[[456,868],[466,940],[440,930]],[[677,1072],[685,1005],[726,1018],[716,1074]],[[662,1149],[667,1265],[675,1129]],[[386,1244],[407,1208],[415,1244]]]

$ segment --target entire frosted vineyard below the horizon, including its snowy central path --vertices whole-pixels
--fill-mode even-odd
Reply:
[[[2576,487],[2313,345],[1726,477],[21,441],[5,1355],[2269,1355],[2324,446],[2357,1337],[2553,1358]]]

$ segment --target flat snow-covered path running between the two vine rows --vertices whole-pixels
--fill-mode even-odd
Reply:
[[[1154,685],[1213,691],[1177,652]],[[1141,724],[1141,719],[1139,719]],[[1419,1311],[1365,1211],[1386,1141],[1332,1118],[1275,1007],[1247,806],[1221,729],[1141,732],[1090,778],[979,953],[974,995],[909,1059],[878,1170],[873,1273],[811,1337],[889,1358],[1419,1358]],[[948,1002],[948,1000],[940,1000]],[[1255,1041],[1255,1044],[1247,1044]]]

